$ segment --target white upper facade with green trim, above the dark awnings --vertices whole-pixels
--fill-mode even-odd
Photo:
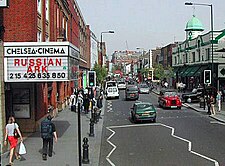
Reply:
[[[218,38],[223,31],[213,33],[213,63],[225,63],[224,53],[216,52],[218,49]],[[185,40],[173,48],[172,66],[208,64],[212,62],[211,32],[199,35],[192,40]]]

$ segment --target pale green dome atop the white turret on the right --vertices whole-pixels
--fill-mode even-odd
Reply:
[[[185,31],[204,31],[201,21],[193,15],[187,22]]]

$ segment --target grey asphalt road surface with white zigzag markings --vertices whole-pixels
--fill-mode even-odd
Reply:
[[[106,101],[99,165],[225,165],[223,123],[185,107],[159,108],[153,93],[140,94],[139,100],[154,104],[156,123],[132,123],[135,101],[125,101],[124,91],[119,100]]]

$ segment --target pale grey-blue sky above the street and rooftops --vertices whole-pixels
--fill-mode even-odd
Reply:
[[[164,47],[185,40],[186,23],[194,14],[210,31],[210,7],[185,6],[185,2],[213,5],[214,30],[225,29],[225,0],[77,0],[85,23],[100,41],[103,34],[107,54],[114,51]]]

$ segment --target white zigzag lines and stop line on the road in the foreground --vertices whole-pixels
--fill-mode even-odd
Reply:
[[[112,130],[112,129],[115,129],[115,128],[127,128],[127,127],[141,127],[141,126],[159,126],[159,125],[171,129],[171,136],[172,136],[172,137],[177,138],[177,139],[180,139],[180,140],[182,140],[182,141],[184,141],[184,142],[187,142],[187,143],[188,143],[188,151],[189,151],[190,153],[195,154],[195,155],[197,155],[197,156],[199,156],[199,157],[202,157],[202,158],[204,158],[204,159],[206,159],[206,160],[209,160],[209,161],[211,161],[211,162],[214,162],[215,166],[219,166],[218,161],[216,161],[216,160],[214,160],[214,159],[212,159],[212,158],[209,158],[209,157],[207,157],[207,156],[205,156],[205,155],[202,155],[202,154],[200,154],[200,153],[197,153],[197,152],[193,151],[193,150],[192,150],[192,143],[191,143],[191,141],[189,141],[189,140],[187,140],[187,139],[185,139],[185,138],[176,136],[176,135],[174,134],[174,133],[175,133],[175,129],[174,129],[173,127],[167,126],[167,125],[162,124],[162,123],[141,124],[141,125],[139,125],[139,124],[136,124],[136,125],[122,125],[122,126],[110,126],[110,127],[106,127],[107,130],[109,130],[109,131],[112,132],[112,134],[108,137],[107,142],[113,147],[113,149],[112,149],[112,150],[109,152],[109,154],[107,155],[106,160],[109,162],[110,165],[115,166],[115,164],[110,160],[110,156],[111,156],[112,153],[116,150],[116,145],[114,145],[114,144],[110,141],[110,139],[111,139],[111,138],[115,135],[115,133],[116,133],[116,132],[115,132],[114,130]]]

